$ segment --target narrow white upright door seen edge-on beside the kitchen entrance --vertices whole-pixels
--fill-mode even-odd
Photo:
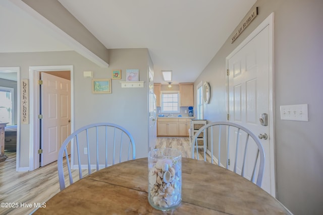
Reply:
[[[149,106],[149,136],[148,136],[148,152],[153,150],[156,146],[157,138],[157,125],[156,125],[156,97],[153,91],[153,71],[149,67],[149,95],[148,95],[148,106]]]

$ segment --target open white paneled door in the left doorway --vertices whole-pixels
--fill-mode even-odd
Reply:
[[[40,166],[57,161],[62,142],[71,133],[71,81],[41,73]],[[69,149],[70,150],[70,149]],[[70,152],[69,152],[70,153]]]

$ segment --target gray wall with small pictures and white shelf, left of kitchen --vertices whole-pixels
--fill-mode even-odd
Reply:
[[[74,66],[74,129],[94,122],[112,122],[125,127],[133,135],[136,157],[147,157],[148,103],[147,49],[113,49],[109,51],[111,66],[101,68],[74,51],[0,53],[0,66],[20,66],[21,79],[29,79],[29,66]],[[121,88],[126,68],[138,68],[144,88]],[[93,71],[94,78],[111,78],[112,69],[122,69],[122,79],[112,80],[112,94],[92,94],[92,79],[83,71]],[[147,129],[146,129],[147,128]],[[21,125],[20,167],[29,166],[30,125]]]

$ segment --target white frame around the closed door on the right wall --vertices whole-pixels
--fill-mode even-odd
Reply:
[[[229,68],[229,59],[235,55],[242,47],[250,42],[257,34],[259,34],[264,28],[268,26],[269,38],[269,112],[268,112],[268,124],[269,137],[270,137],[270,151],[271,151],[271,164],[270,171],[273,174],[274,181],[271,180],[271,193],[274,197],[277,196],[276,189],[276,161],[275,161],[275,132],[274,132],[274,13],[271,13],[262,23],[258,25],[227,57],[226,57],[226,69]],[[229,113],[229,77],[227,76],[227,113]]]

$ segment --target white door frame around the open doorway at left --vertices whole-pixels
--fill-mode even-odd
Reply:
[[[29,171],[39,168],[39,134],[38,120],[40,107],[39,74],[41,71],[69,70],[71,74],[71,132],[74,130],[74,76],[73,65],[29,66],[30,80],[30,137],[29,137]]]

